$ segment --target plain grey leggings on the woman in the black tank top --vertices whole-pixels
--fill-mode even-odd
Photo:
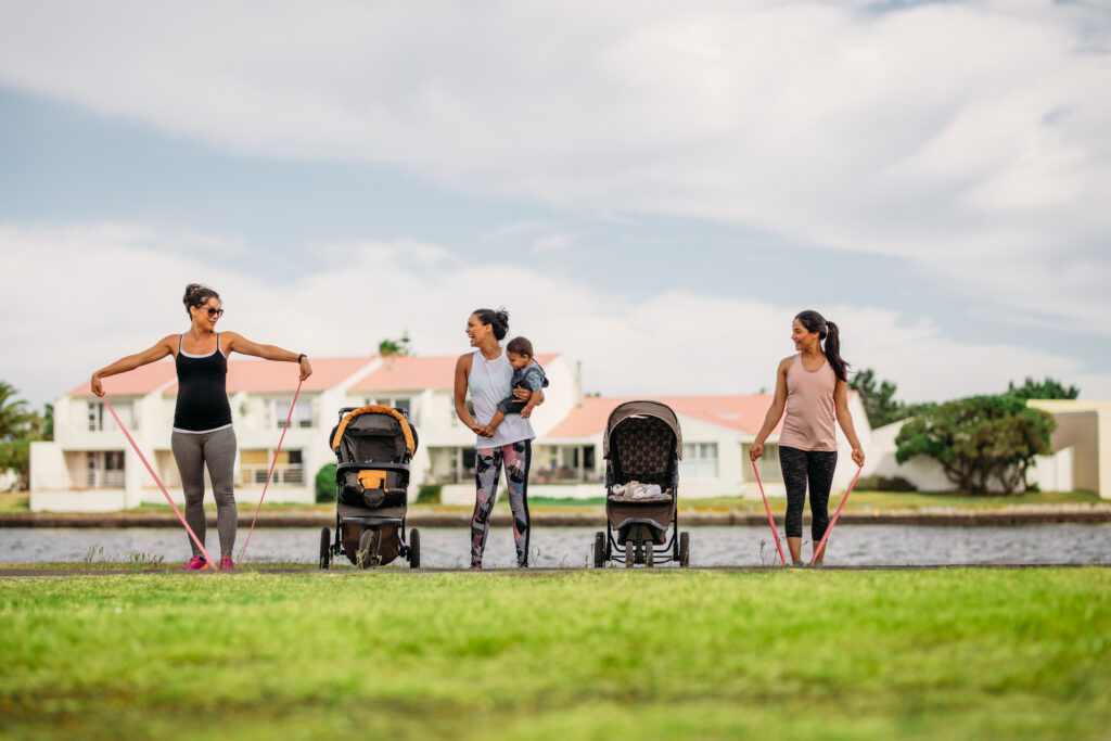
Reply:
[[[186,522],[203,543],[208,530],[204,517],[204,465],[208,464],[216,499],[216,524],[220,531],[220,554],[231,555],[236,548],[236,494],[232,492],[236,468],[236,431],[228,427],[216,432],[174,432],[170,435],[173,460],[181,473],[181,488],[186,492]],[[187,535],[188,537],[188,535]],[[193,555],[201,549],[189,539]]]

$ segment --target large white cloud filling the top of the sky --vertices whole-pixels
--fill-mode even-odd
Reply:
[[[1111,13],[870,8],[10,3],[0,82],[250,154],[901,256],[1074,330],[1111,312]]]

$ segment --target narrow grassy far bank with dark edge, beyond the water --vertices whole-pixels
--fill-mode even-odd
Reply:
[[[565,508],[560,508],[565,509]],[[539,527],[598,527],[605,525],[601,507],[583,507],[578,511],[552,511],[534,508],[533,525]],[[782,512],[773,512],[782,519]],[[250,528],[252,512],[240,513],[239,527]],[[216,527],[216,513],[208,512],[210,527]],[[809,510],[804,521],[810,521]],[[406,518],[408,527],[456,528],[469,527],[469,511],[422,511],[410,508]],[[1002,509],[923,508],[917,510],[855,510],[842,511],[839,524],[915,524],[915,525],[1007,525],[1058,523],[1111,522],[1111,504],[1015,505]],[[508,508],[494,511],[490,518],[493,527],[512,524]],[[6,528],[172,528],[180,524],[172,512],[7,512],[0,513],[0,529]],[[742,510],[699,511],[679,510],[679,527],[700,525],[767,525],[764,512]],[[326,528],[336,525],[331,512],[260,512],[258,528]]]

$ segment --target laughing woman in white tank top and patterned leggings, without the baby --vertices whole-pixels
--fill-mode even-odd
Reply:
[[[499,344],[509,331],[509,314],[479,309],[467,320],[467,337],[473,352],[456,363],[456,414],[478,435],[474,447],[474,514],[471,517],[471,568],[482,568],[482,552],[490,531],[490,513],[498,495],[498,480],[506,469],[509,507],[513,512],[513,542],[517,564],[529,565],[529,462],[532,458],[532,425],[517,414],[506,418],[492,437],[484,425],[493,418],[498,402],[512,391],[519,398],[524,389],[513,390],[513,369]],[[470,392],[474,414],[467,409]],[[541,393],[540,403],[543,403]],[[478,418],[478,420],[476,420]]]

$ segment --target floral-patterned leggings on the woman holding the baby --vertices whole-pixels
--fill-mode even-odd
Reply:
[[[490,531],[490,512],[498,497],[498,479],[506,467],[509,508],[513,511],[513,541],[517,565],[529,565],[529,462],[532,441],[522,440],[501,448],[479,448],[474,455],[474,515],[471,518],[471,565],[482,565],[482,551]]]

